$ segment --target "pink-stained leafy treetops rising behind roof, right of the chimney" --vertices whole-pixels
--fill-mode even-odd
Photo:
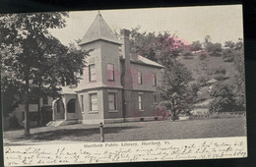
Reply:
[[[140,27],[132,28],[130,37],[131,53],[139,54],[150,60],[164,65],[165,57],[178,57],[183,49],[188,49],[175,33],[167,31],[156,34],[155,32],[139,32]]]

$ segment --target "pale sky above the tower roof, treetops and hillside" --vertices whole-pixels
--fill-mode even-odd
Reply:
[[[176,32],[180,39],[188,42],[202,42],[207,34],[213,42],[221,43],[243,38],[241,5],[100,10],[100,14],[108,26],[118,32],[120,28],[141,26],[141,32]],[[50,30],[65,45],[85,35],[97,11],[70,12],[69,15],[66,28]]]

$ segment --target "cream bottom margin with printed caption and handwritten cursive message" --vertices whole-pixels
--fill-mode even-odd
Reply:
[[[5,166],[246,157],[246,138],[5,146]]]

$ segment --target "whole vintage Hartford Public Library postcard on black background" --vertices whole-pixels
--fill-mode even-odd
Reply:
[[[247,157],[242,6],[2,14],[5,166]]]

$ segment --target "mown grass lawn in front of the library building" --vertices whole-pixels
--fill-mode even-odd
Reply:
[[[105,141],[150,139],[201,139],[246,136],[244,117],[187,121],[131,122],[104,125]],[[32,140],[34,144],[52,141],[100,141],[98,126],[70,125],[41,127],[31,130],[31,139],[23,138],[23,130],[4,132],[8,144]],[[5,143],[4,143],[5,144]]]

